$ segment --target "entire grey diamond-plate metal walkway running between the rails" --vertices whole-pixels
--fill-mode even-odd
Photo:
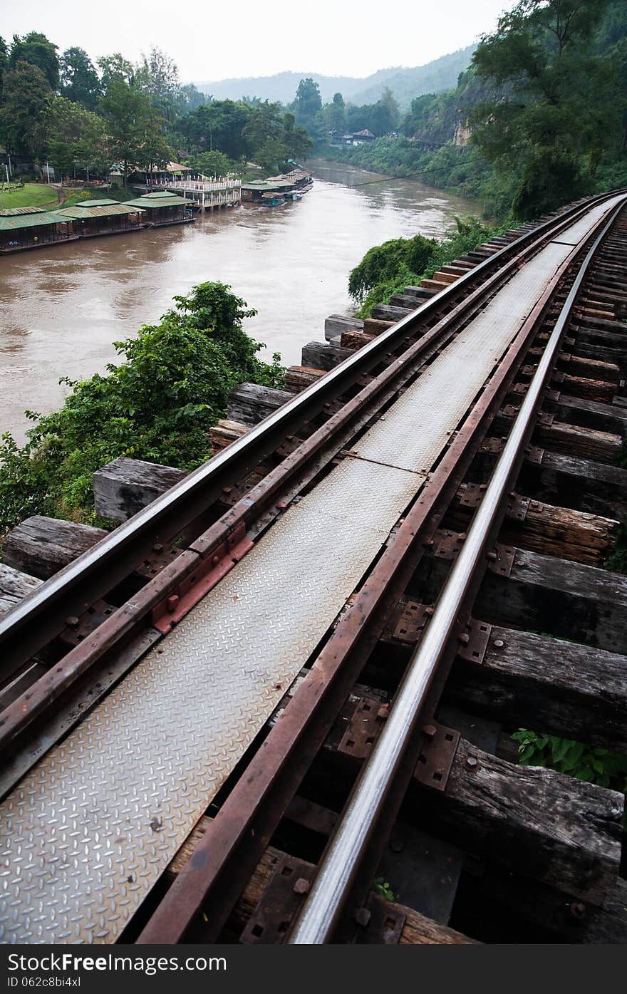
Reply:
[[[3,942],[117,938],[377,557],[568,250],[551,245],[528,263],[364,435],[361,457],[292,506],[0,804]]]

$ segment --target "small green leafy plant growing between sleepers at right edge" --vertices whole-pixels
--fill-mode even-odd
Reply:
[[[586,783],[627,791],[627,756],[573,739],[546,736],[519,729],[512,736],[519,743],[519,762],[525,766],[548,766],[569,773]]]

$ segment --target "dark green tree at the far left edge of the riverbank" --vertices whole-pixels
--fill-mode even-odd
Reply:
[[[46,148],[50,85],[38,66],[19,62],[7,70],[0,106],[0,131],[9,151],[40,155]]]

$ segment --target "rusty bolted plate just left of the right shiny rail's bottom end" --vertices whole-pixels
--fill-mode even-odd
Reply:
[[[280,944],[311,888],[315,871],[311,863],[294,856],[282,856],[239,941],[246,945]]]

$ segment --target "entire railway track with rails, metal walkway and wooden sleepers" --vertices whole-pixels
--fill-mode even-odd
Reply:
[[[407,288],[63,570],[16,574],[3,941],[625,940],[624,797],[500,736],[625,750],[625,201]],[[388,866],[402,906],[372,895]]]

